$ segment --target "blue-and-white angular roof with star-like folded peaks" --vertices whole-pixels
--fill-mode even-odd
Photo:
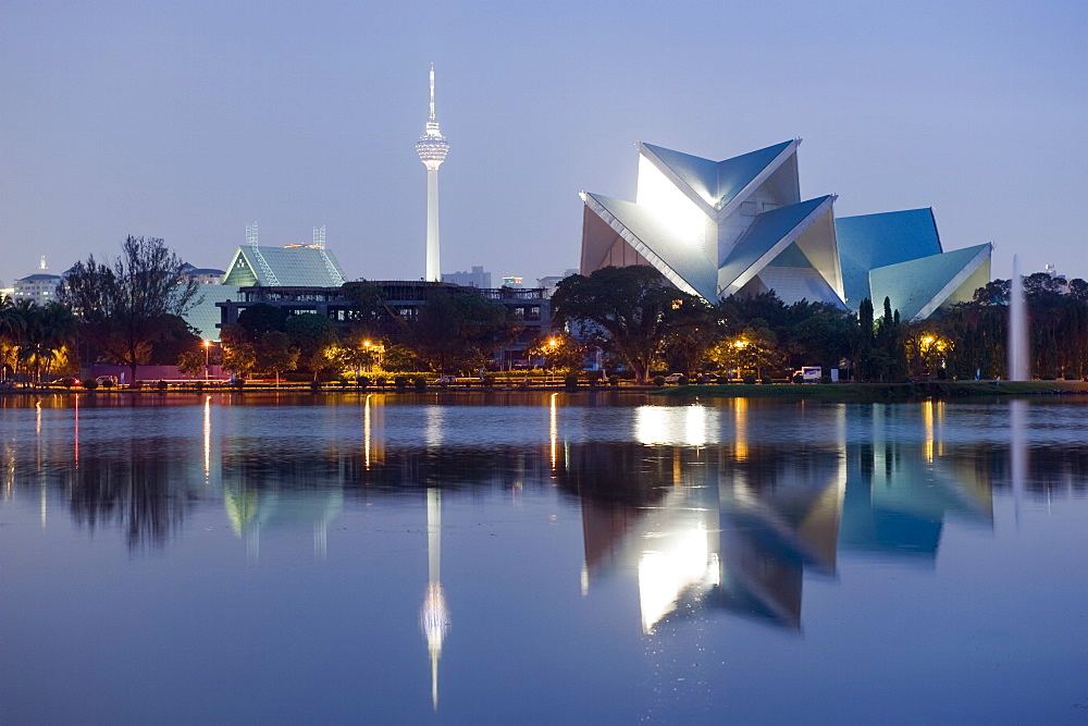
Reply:
[[[582,274],[650,264],[712,303],[774,290],[856,309],[887,295],[906,320],[988,282],[991,246],[942,253],[929,209],[845,218],[840,254],[834,195],[801,199],[799,144],[712,161],[640,143],[638,202],[581,195]]]

